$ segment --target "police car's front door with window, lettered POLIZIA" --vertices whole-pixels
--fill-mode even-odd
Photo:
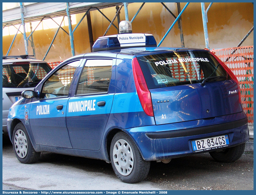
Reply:
[[[66,126],[69,86],[78,61],[62,66],[42,85],[40,98],[30,106],[30,126],[36,144],[72,148]]]

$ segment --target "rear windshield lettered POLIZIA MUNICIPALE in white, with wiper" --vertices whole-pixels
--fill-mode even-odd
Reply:
[[[226,70],[210,54],[187,51],[138,57],[148,89],[229,80]]]

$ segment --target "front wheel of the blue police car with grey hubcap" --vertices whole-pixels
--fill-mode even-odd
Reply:
[[[21,163],[30,164],[37,161],[41,152],[34,150],[28,132],[22,123],[15,126],[12,141],[15,155]]]

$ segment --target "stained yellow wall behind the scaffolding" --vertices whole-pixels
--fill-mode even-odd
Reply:
[[[130,3],[128,5],[129,20],[137,12],[142,3]],[[177,16],[177,4],[165,3],[165,5]],[[206,8],[209,3],[205,3]],[[185,3],[181,3],[181,9]],[[110,20],[113,19],[115,7],[101,10]],[[77,22],[84,15],[77,14]],[[121,20],[125,20],[124,8],[120,14]],[[132,23],[133,33],[151,33],[159,43],[175,18],[162,6],[161,3],[146,3]],[[94,41],[102,36],[109,26],[109,22],[97,11],[91,11],[91,21]],[[117,26],[117,19],[114,24]],[[248,31],[253,27],[252,3],[213,3],[208,12],[208,34],[210,49],[236,47]],[[73,28],[76,25],[73,25]],[[200,3],[190,3],[182,14],[182,27],[185,47],[205,48],[204,30]],[[68,27],[63,27],[68,32]],[[42,59],[56,32],[55,29],[40,30],[34,32],[36,58]],[[117,30],[112,26],[107,35],[116,34]],[[27,33],[27,35],[30,33]],[[8,51],[14,35],[3,36],[3,54]],[[251,33],[243,45],[253,45],[253,33]],[[167,35],[161,46],[180,47],[180,31],[178,24]],[[90,52],[87,20],[83,19],[74,32],[74,47],[76,55]],[[18,34],[9,55],[25,54],[23,35]],[[33,54],[29,44],[29,55]],[[71,57],[69,36],[60,30],[49,54],[47,62],[62,61]]]

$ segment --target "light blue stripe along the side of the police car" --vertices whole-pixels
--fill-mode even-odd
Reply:
[[[114,100],[113,100],[114,96]],[[87,101],[87,103],[85,103]],[[90,101],[90,108],[88,108],[88,102]],[[97,102],[105,101],[105,106],[97,106]],[[85,106],[85,104],[87,104]],[[29,107],[32,106],[31,110]],[[92,96],[80,96],[71,97],[69,100],[65,99],[54,99],[47,101],[36,101],[32,104],[27,104],[29,111],[29,118],[58,118],[58,117],[71,117],[71,116],[84,116],[84,115],[98,115],[98,114],[114,114],[114,113],[128,113],[128,112],[143,112],[140,100],[137,93],[118,93],[118,94],[103,94],[103,95],[92,95]],[[37,106],[43,106],[44,108],[37,110]],[[61,110],[57,110],[57,105],[63,105]],[[47,114],[49,106],[49,114]],[[72,109],[69,106],[73,106]],[[41,108],[41,107],[40,107]],[[25,117],[25,104],[17,105],[12,111],[13,114],[9,118],[21,118]],[[42,114],[39,115],[39,111]],[[61,114],[62,111],[64,115]],[[111,111],[111,112],[110,112]],[[44,113],[43,113],[44,112]]]

